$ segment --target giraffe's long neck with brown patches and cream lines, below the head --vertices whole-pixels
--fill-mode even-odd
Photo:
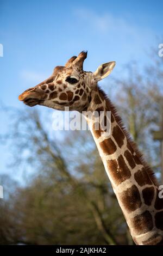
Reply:
[[[99,155],[118,203],[138,245],[155,245],[163,239],[163,199],[151,169],[124,130],[115,108],[101,89],[91,93],[87,111],[111,111],[111,133],[95,129],[87,118]]]

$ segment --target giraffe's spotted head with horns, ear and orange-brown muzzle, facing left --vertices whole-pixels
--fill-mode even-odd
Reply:
[[[91,92],[97,82],[108,76],[115,62],[102,64],[95,72],[83,71],[87,52],[70,58],[65,66],[56,66],[53,74],[37,86],[27,89],[18,99],[33,107],[43,105],[54,109],[82,112],[91,101]]]

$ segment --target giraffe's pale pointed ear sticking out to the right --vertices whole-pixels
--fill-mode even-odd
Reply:
[[[112,69],[114,69],[116,62],[108,62],[100,65],[98,69],[93,73],[94,79],[99,81],[108,76]]]

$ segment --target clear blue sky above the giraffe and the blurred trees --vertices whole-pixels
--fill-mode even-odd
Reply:
[[[131,60],[148,63],[150,47],[161,43],[162,16],[162,1],[1,0],[0,101],[22,108],[17,97],[24,89],[82,50],[88,51],[85,70],[116,60],[114,75],[120,78]],[[0,122],[6,130],[2,114]],[[0,146],[0,172],[8,172],[7,151]]]

